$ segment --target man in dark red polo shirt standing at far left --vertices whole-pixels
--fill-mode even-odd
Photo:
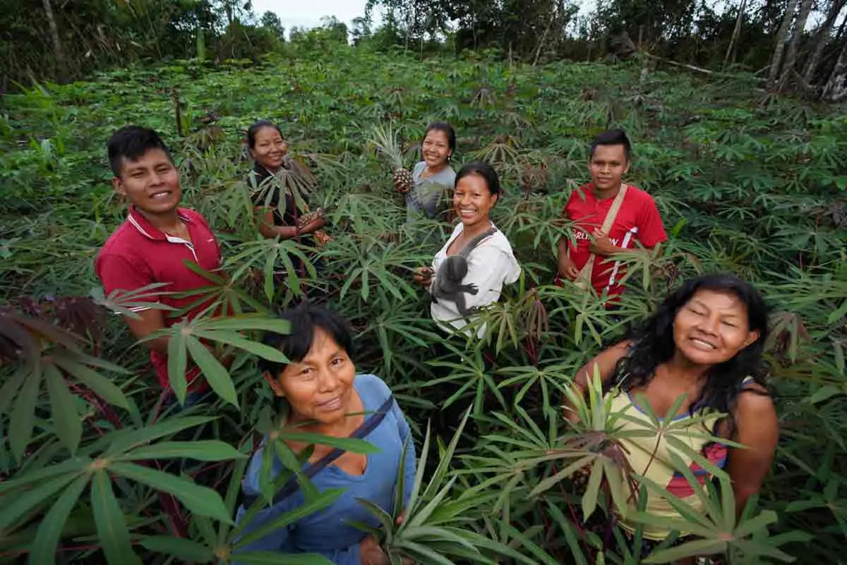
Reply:
[[[173,326],[180,317],[194,318],[208,308],[208,304],[199,304],[183,312],[197,302],[197,296],[177,298],[169,293],[208,286],[208,279],[191,271],[184,261],[212,272],[221,266],[220,249],[206,220],[196,211],[179,207],[180,172],[156,132],[138,126],[119,129],[108,142],[108,158],[114,173],[112,186],[129,200],[130,214],[97,254],[97,277],[107,294],[163,282],[163,287],[153,291],[163,294],[137,300],[160,302],[177,310],[134,309],[140,317],[125,320],[133,335],[143,339]],[[145,342],[159,384],[165,389],[170,387],[168,339],[157,337]],[[197,376],[196,367],[186,375],[190,392],[202,392],[206,387]]]

